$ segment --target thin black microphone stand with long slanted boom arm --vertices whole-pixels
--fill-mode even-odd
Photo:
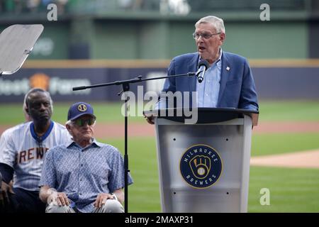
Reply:
[[[126,80],[120,80],[116,82],[111,82],[111,83],[105,83],[105,84],[94,84],[90,86],[80,86],[80,87],[73,87],[73,91],[79,91],[79,90],[84,90],[84,89],[90,89],[94,87],[107,87],[107,86],[113,86],[113,85],[122,85],[122,91],[118,93],[118,96],[121,94],[125,94],[125,92],[128,92],[130,90],[130,84],[134,83],[139,83],[147,80],[154,80],[154,79],[166,79],[170,77],[190,77],[190,76],[195,76],[197,75],[198,72],[188,72],[185,74],[176,74],[176,75],[171,75],[171,76],[165,76],[165,77],[153,77],[153,78],[148,78],[148,79],[142,79],[142,76],[135,77],[133,79],[126,79]],[[125,213],[128,213],[128,172],[130,170],[128,169],[128,97],[125,96],[125,116],[124,116],[124,131],[125,131],[125,138],[124,138],[124,201],[125,201],[125,206],[124,206],[124,211]]]

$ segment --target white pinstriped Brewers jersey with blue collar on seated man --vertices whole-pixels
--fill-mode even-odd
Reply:
[[[13,167],[13,187],[38,191],[45,153],[70,138],[65,126],[54,121],[42,137],[36,135],[32,121],[6,130],[0,138],[0,163]]]

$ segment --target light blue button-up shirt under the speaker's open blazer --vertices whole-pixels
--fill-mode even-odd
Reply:
[[[216,107],[220,89],[221,65],[223,51],[220,48],[220,55],[216,62],[206,70],[203,82],[196,82],[197,106]],[[201,58],[199,59],[201,60]]]

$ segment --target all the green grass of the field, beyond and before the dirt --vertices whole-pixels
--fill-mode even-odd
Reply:
[[[23,121],[22,104],[0,105],[0,125]],[[123,123],[121,104],[94,103],[98,123]],[[69,104],[55,104],[53,119],[65,123]],[[319,101],[261,101],[259,122],[319,121]],[[142,117],[130,122],[145,123]],[[122,152],[124,139],[105,140]],[[319,133],[257,134],[252,138],[252,156],[290,153],[319,148]],[[130,139],[130,170],[134,184],[129,187],[130,212],[159,212],[159,179],[155,138]],[[250,168],[249,212],[319,212],[319,170],[275,167]],[[262,206],[260,189],[270,190],[270,205]]]

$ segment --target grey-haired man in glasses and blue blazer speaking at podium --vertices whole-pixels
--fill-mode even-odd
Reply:
[[[201,18],[195,23],[193,37],[198,52],[174,57],[167,75],[196,72],[196,77],[167,78],[162,92],[197,92],[196,105],[189,105],[194,107],[258,111],[254,79],[247,60],[221,48],[225,41],[223,19]],[[166,98],[160,97],[157,108],[166,107]],[[147,122],[154,123],[153,117],[147,117]]]

